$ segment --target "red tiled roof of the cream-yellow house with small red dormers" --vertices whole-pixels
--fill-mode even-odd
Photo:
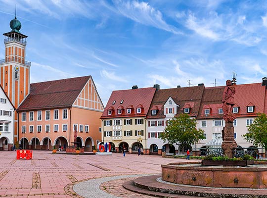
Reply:
[[[113,106],[115,109],[117,109],[120,105],[124,105],[126,106],[126,108],[133,108],[132,113],[127,114],[127,111],[122,111],[122,114],[118,114],[118,112],[115,111],[112,115],[108,115],[108,109],[105,108],[101,119],[114,117],[146,116],[155,91],[155,88],[138,88],[134,90],[113,91],[106,106]],[[120,101],[122,100],[123,103],[120,104]],[[113,101],[116,101],[115,104],[112,104]],[[136,108],[139,108],[140,104],[143,106],[143,110],[141,111],[141,113],[137,113]]]

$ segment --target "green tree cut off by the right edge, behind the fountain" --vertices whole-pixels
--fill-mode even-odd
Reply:
[[[248,133],[242,135],[247,141],[256,147],[262,146],[265,148],[267,156],[267,116],[265,113],[258,113],[251,125],[248,126]]]

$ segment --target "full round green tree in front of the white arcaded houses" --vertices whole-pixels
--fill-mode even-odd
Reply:
[[[169,144],[179,144],[182,151],[187,145],[198,143],[204,139],[204,131],[197,130],[196,119],[190,119],[188,114],[180,114],[178,117],[168,121],[164,133],[161,133],[160,138]]]

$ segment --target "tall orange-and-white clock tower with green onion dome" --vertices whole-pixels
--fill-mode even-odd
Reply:
[[[4,33],[5,55],[0,60],[0,84],[18,108],[30,92],[31,63],[25,60],[26,35],[20,33],[21,23],[15,17],[9,23],[11,31]],[[14,112],[14,143],[18,140],[18,114]]]

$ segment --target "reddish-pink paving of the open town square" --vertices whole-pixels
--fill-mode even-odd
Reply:
[[[88,180],[100,178],[98,182],[108,182],[109,180],[104,178],[114,177],[116,180],[124,178],[124,175],[160,174],[161,164],[186,161],[156,155],[67,155],[41,150],[33,151],[32,160],[16,160],[15,151],[0,151],[0,159],[0,197],[8,198],[81,198],[79,192],[73,191],[73,186],[80,182],[88,182],[86,190],[93,191],[96,198],[102,182],[92,185],[94,182]],[[122,183],[120,181],[118,185]],[[103,185],[101,187],[104,192],[107,192],[106,184],[105,189]],[[122,193],[126,190],[122,188],[114,185],[108,187],[108,191],[114,197],[123,198]],[[132,197],[138,197],[134,195],[131,194]]]

